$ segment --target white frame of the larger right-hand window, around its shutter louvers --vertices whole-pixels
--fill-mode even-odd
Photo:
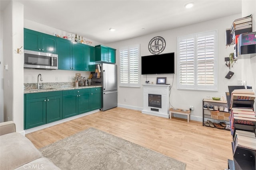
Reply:
[[[190,39],[194,38],[194,40],[197,39],[198,35],[212,35],[212,33],[215,32],[215,41],[214,41],[214,85],[213,86],[207,86],[207,85],[198,85],[197,84],[197,61],[196,58],[194,58],[194,68],[196,68],[194,72],[194,82],[196,84],[194,85],[184,85],[180,84],[180,59],[179,59],[179,42],[183,39]],[[203,90],[203,91],[218,91],[218,31],[207,31],[204,33],[195,33],[191,35],[185,35],[177,37],[177,89],[178,90]],[[194,41],[196,42],[196,41]],[[197,47],[194,44],[194,57],[196,57],[197,53]]]

